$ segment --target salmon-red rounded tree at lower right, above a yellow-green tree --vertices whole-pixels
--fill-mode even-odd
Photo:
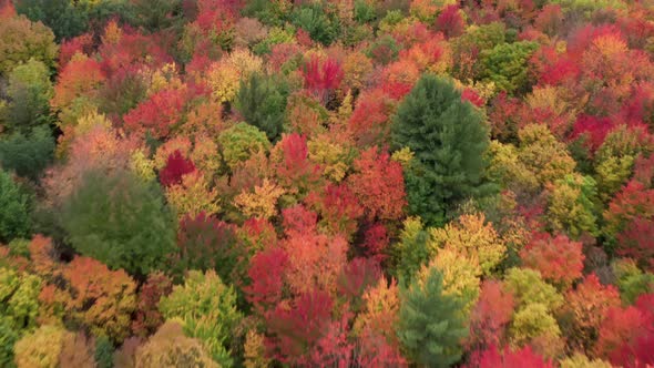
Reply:
[[[581,242],[573,242],[565,235],[553,237],[549,233],[535,233],[520,252],[520,258],[524,266],[539,270],[544,279],[570,286],[582,276],[585,257]]]

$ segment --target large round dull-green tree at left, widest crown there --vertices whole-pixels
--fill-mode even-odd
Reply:
[[[61,225],[71,245],[113,269],[147,275],[175,249],[175,225],[161,191],[133,174],[89,172],[70,195]]]

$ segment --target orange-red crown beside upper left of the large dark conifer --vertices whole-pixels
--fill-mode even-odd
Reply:
[[[348,127],[360,146],[382,144],[390,135],[392,103],[379,89],[364,92],[348,120]]]

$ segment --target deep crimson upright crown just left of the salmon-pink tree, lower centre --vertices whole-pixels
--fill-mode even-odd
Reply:
[[[247,276],[252,284],[245,287],[245,295],[257,314],[266,315],[282,301],[287,266],[288,256],[278,247],[262,251],[249,260]]]

